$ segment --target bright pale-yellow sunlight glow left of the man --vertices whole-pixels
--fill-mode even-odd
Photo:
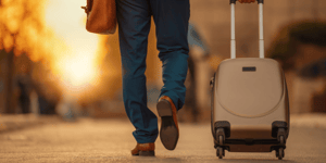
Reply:
[[[52,45],[52,71],[60,76],[64,90],[84,91],[99,78],[99,36],[85,28],[86,1],[48,0],[46,23],[61,41]],[[67,48],[62,48],[65,45]],[[67,92],[68,93],[68,92]]]

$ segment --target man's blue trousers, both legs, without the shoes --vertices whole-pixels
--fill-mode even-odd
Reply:
[[[185,102],[188,71],[189,0],[116,0],[123,67],[123,98],[135,126],[138,143],[154,142],[158,118],[147,106],[146,57],[151,15],[156,26],[159,58],[163,63],[161,96],[168,96],[177,109]]]

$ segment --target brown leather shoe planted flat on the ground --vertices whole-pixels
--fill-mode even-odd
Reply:
[[[131,150],[131,155],[154,156],[155,143],[137,143]]]

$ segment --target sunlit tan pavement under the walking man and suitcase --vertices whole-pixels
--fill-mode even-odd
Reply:
[[[11,118],[7,118],[12,116]],[[296,115],[297,116],[297,115]],[[125,118],[78,118],[64,122],[58,117],[1,115],[0,162],[326,162],[326,116],[306,114],[291,117],[285,159],[271,153],[226,152],[218,160],[213,148],[209,123],[179,124],[180,137],[174,151],[158,138],[154,158],[131,156],[136,146],[133,125]],[[21,118],[21,120],[20,120]],[[7,120],[7,122],[4,122]],[[34,121],[32,121],[34,120]],[[47,121],[48,120],[48,121]],[[11,123],[9,123],[11,121]],[[20,128],[10,129],[13,124]],[[28,125],[28,123],[34,125]],[[36,125],[38,124],[38,125]]]

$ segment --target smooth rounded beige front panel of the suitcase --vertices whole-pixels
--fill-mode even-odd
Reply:
[[[274,60],[226,60],[220,64],[216,74],[215,100],[235,115],[260,117],[275,111],[280,104],[284,78]]]

